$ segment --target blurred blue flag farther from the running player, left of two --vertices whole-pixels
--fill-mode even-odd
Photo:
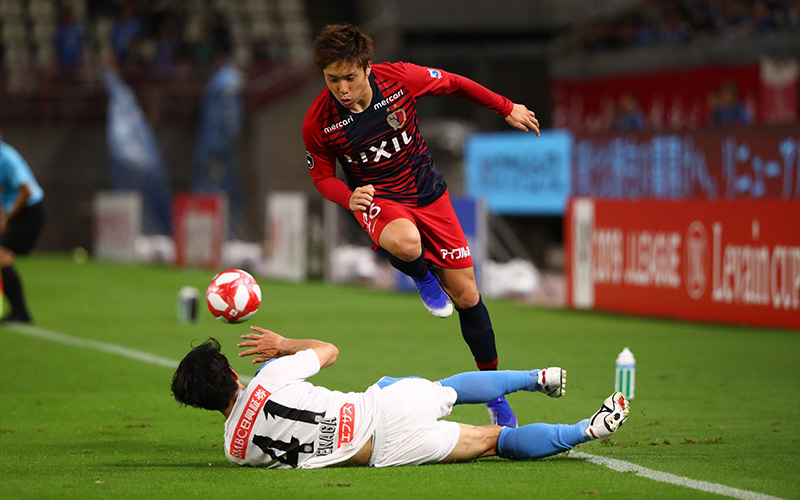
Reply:
[[[153,130],[131,89],[112,70],[103,73],[108,91],[106,137],[115,190],[142,195],[144,234],[170,234],[169,176]]]

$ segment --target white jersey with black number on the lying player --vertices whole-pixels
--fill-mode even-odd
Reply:
[[[320,370],[308,349],[268,362],[225,421],[225,455],[237,465],[318,468],[351,459],[372,436],[377,386],[331,391],[305,379]]]

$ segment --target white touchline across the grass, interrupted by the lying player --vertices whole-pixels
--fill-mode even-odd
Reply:
[[[58,333],[58,332],[52,332],[50,330],[45,330],[43,328],[37,328],[35,326],[30,326],[30,325],[13,325],[13,326],[6,325],[6,329],[22,335],[26,335],[28,337],[35,337],[39,339],[50,340],[52,342],[57,342],[60,344],[71,345],[75,347],[83,347],[86,349],[92,349],[95,351],[105,352],[109,354],[116,354],[118,356],[122,356],[128,359],[144,361],[145,363],[164,366],[172,369],[177,368],[179,363],[179,361],[174,359],[168,359],[161,356],[156,356],[155,354],[150,354],[144,351],[137,351],[136,349],[130,349],[128,347],[123,347],[121,345],[111,344],[108,342],[100,342],[97,340],[82,339],[79,337],[72,337],[70,335],[65,335],[63,333]],[[250,381],[250,377],[241,377],[241,379],[242,382],[244,382],[245,384],[249,383]],[[670,474],[668,472],[660,472],[657,470],[648,469],[647,467],[642,467],[640,465],[636,465],[631,462],[625,462],[624,460],[617,460],[615,458],[590,455],[588,453],[582,453],[579,451],[571,451],[569,453],[569,456],[580,460],[586,460],[587,462],[591,462],[596,465],[602,465],[603,467],[608,467],[609,469],[615,470],[617,472],[635,472],[638,476],[645,477],[647,479],[652,479],[653,481],[675,484],[678,486],[692,488],[707,493],[716,493],[718,495],[724,495],[731,498],[738,498],[740,500],[781,500],[778,497],[765,495],[763,493],[740,490],[738,488],[732,488],[730,486],[725,486],[722,484],[709,483],[706,481],[698,481],[696,479],[677,476],[675,474]]]

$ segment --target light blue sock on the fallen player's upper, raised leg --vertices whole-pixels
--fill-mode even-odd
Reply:
[[[456,404],[486,403],[516,391],[539,391],[539,370],[466,372],[439,381],[458,394]]]

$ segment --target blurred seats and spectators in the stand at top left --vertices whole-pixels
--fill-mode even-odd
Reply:
[[[213,66],[307,59],[301,0],[0,0],[6,73],[113,65],[173,78]],[[34,73],[35,74],[35,73]],[[8,78],[9,90],[30,87]]]

